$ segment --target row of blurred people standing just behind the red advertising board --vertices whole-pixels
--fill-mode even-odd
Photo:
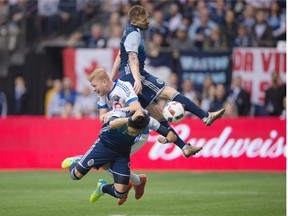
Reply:
[[[177,88],[178,76],[172,73],[169,76],[167,85]],[[16,77],[15,88],[9,96],[11,115],[27,115],[29,91],[25,87],[23,77]],[[193,82],[184,80],[181,83],[182,93],[200,106],[203,110],[216,111],[224,107],[226,117],[254,116],[255,110],[250,102],[250,95],[242,87],[242,79],[235,76],[231,86],[225,87],[223,84],[213,83],[211,76],[207,76],[203,90],[197,91],[193,87]],[[77,92],[69,77],[47,80],[47,91],[45,94],[45,115],[47,117],[61,118],[95,118],[98,116],[97,110],[98,96],[90,87],[83,87],[81,92]],[[167,101],[158,101],[161,106],[165,106]],[[7,115],[7,99],[0,92],[0,112],[2,116]],[[279,74],[274,71],[271,74],[271,82],[265,91],[262,116],[279,116],[286,118],[286,83],[281,81]]]

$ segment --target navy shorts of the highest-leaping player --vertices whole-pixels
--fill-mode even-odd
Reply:
[[[120,79],[130,82],[132,86],[134,85],[134,78],[132,73],[126,74]],[[146,71],[141,72],[141,81],[143,89],[142,94],[138,95],[138,97],[141,106],[145,109],[157,98],[166,84],[163,80],[149,74]]]

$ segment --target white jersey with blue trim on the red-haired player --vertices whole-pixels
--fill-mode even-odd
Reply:
[[[132,85],[129,82],[117,79],[112,91],[106,96],[99,98],[97,108],[115,110],[127,107],[133,101],[138,101],[138,96],[134,92]]]

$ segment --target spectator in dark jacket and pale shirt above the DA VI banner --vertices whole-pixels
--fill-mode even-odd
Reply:
[[[271,47],[274,45],[272,29],[265,21],[265,13],[263,10],[257,11],[256,23],[254,24],[251,33],[255,46]]]

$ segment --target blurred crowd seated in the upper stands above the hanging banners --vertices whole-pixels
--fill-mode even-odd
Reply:
[[[0,36],[9,34],[11,50],[20,38],[30,47],[62,38],[67,46],[118,48],[133,4],[147,9],[146,39],[162,47],[219,50],[286,40],[285,0],[0,0]]]

